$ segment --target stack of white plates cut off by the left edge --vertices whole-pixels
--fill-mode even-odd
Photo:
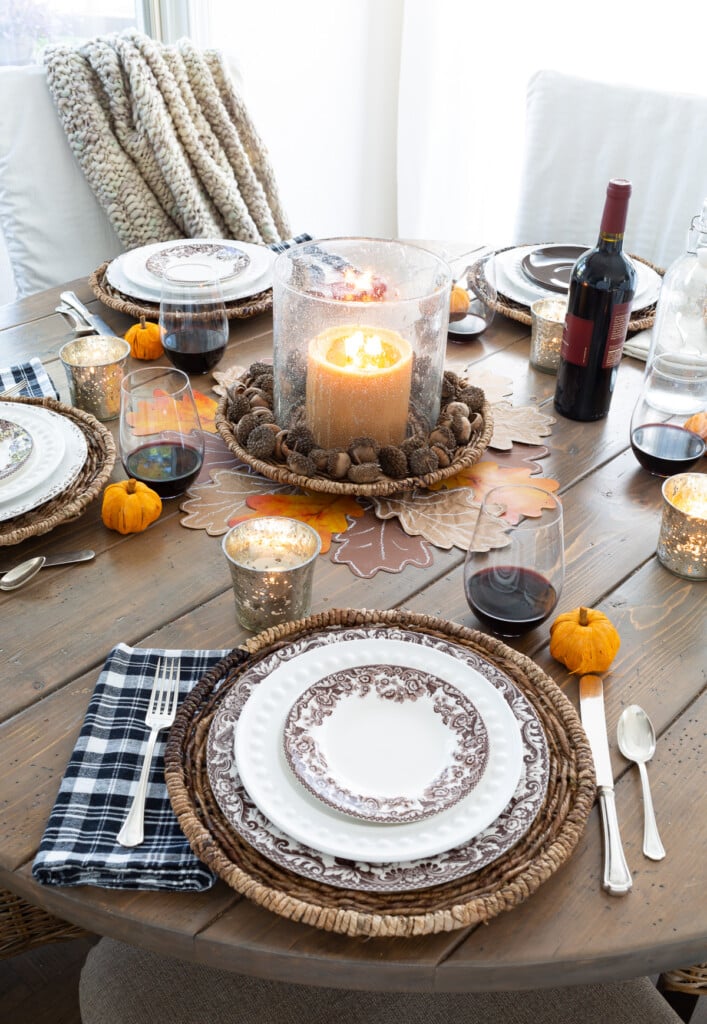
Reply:
[[[0,522],[44,505],[84,467],[84,432],[40,406],[0,402]]]

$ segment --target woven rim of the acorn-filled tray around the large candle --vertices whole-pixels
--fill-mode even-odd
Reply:
[[[482,416],[484,424],[466,445],[456,450],[454,458],[449,466],[438,469],[433,473],[424,476],[407,476],[402,480],[393,480],[389,476],[383,476],[374,483],[352,483],[350,480],[334,480],[328,476],[300,476],[293,473],[281,462],[266,462],[263,459],[256,459],[239,443],[236,437],[236,425],[226,417],[225,411],[228,396],[223,397],[218,402],[216,409],[216,429],[221,435],[226,445],[234,455],[262,476],[276,480],[278,483],[289,483],[294,487],[301,487],[304,490],[317,490],[325,495],[356,495],[359,498],[382,498],[388,495],[399,495],[404,490],[413,490],[415,487],[429,487],[440,480],[445,480],[455,473],[460,472],[466,466],[473,466],[479,462],[484,452],[489,446],[489,441],[494,432],[494,422],[491,414],[491,406],[484,402]]]

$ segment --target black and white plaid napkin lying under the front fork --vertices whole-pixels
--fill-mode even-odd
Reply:
[[[37,882],[105,889],[203,890],[215,876],[192,852],[164,779],[167,730],[158,737],[145,801],[144,842],[116,837],[137,787],[150,730],[144,716],[161,657],[180,659],[180,700],[226,650],[118,644],[109,654],[32,866]]]

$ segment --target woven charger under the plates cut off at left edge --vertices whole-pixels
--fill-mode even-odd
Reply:
[[[61,523],[78,519],[98,497],[116,463],[116,444],[111,431],[90,413],[84,413],[73,406],[65,406],[54,398],[3,400],[25,406],[41,406],[73,420],[86,438],[88,455],[81,472],[66,490],[24,515],[0,522],[0,546],[19,544],[30,537],[48,534]]]

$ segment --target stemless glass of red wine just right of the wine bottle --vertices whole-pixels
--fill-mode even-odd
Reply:
[[[658,355],[643,378],[631,416],[631,449],[655,476],[683,473],[705,452],[702,437],[685,422],[707,410],[707,366],[679,353]]]

